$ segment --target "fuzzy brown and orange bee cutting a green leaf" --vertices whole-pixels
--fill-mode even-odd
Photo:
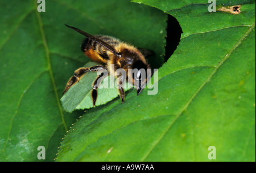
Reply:
[[[147,71],[150,69],[150,65],[147,63],[147,56],[154,54],[151,50],[135,48],[133,45],[122,42],[119,39],[116,39],[112,36],[104,35],[90,35],[87,32],[81,31],[78,28],[65,26],[81,33],[86,39],[82,41],[81,50],[86,56],[91,60],[100,63],[101,65],[96,65],[92,67],[80,67],[75,71],[75,74],[69,79],[67,85],[65,86],[63,95],[69,90],[69,88],[75,83],[79,82],[81,77],[88,71],[98,71],[98,70],[108,70],[108,74],[115,74],[115,70],[124,69],[126,71],[126,79],[121,79],[119,75],[115,74],[115,78],[119,79],[118,91],[122,103],[125,100],[125,92],[123,90],[123,80],[128,81],[129,83],[137,86],[137,95],[139,95],[146,85],[148,78],[151,75],[146,75],[146,78],[141,77],[141,69]],[[128,69],[138,69],[137,74],[127,73]],[[92,86],[92,100],[93,106],[95,107],[97,100],[97,83],[98,80],[102,79],[102,75],[98,75],[96,80],[93,82]]]

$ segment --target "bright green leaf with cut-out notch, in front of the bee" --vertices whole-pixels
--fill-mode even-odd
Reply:
[[[174,15],[184,32],[158,94],[89,109],[57,161],[213,161],[209,146],[216,161],[255,161],[255,1],[218,1],[242,5],[238,15],[205,1],[133,2]]]

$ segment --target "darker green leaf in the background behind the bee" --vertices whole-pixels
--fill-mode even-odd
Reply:
[[[164,61],[167,15],[158,9],[126,0],[55,0],[39,13],[38,5],[0,1],[0,161],[39,161],[38,146],[53,161],[61,138],[84,112],[66,113],[60,103],[73,71],[89,61],[80,50],[84,37],[64,23],[154,49],[160,57],[155,66]]]

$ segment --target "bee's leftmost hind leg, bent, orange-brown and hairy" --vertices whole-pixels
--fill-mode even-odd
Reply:
[[[88,71],[98,71],[100,69],[106,69],[106,67],[104,67],[102,65],[96,65],[96,66],[92,66],[92,67],[89,67],[89,68],[88,67],[81,67],[81,68],[77,69],[75,71],[75,74],[71,78],[69,78],[68,83],[67,83],[62,95],[64,95],[65,92],[67,92],[72,85],[79,82],[82,75],[84,75],[86,72],[88,72]]]

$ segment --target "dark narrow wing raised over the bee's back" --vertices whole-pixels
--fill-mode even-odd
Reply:
[[[87,32],[84,32],[78,28],[75,28],[75,27],[71,27],[71,26],[68,26],[67,24],[65,24],[65,26],[81,33],[81,35],[84,35],[86,37],[88,37],[89,39],[92,39],[94,41],[96,41],[98,44],[102,45],[103,47],[105,47],[106,49],[108,49],[110,52],[114,53],[115,55],[119,56],[119,52],[117,52],[117,50],[115,50],[111,45],[109,45],[108,43],[105,43],[104,41],[100,40],[100,39],[97,39],[96,37],[94,37],[93,35],[90,35],[89,33]]]

